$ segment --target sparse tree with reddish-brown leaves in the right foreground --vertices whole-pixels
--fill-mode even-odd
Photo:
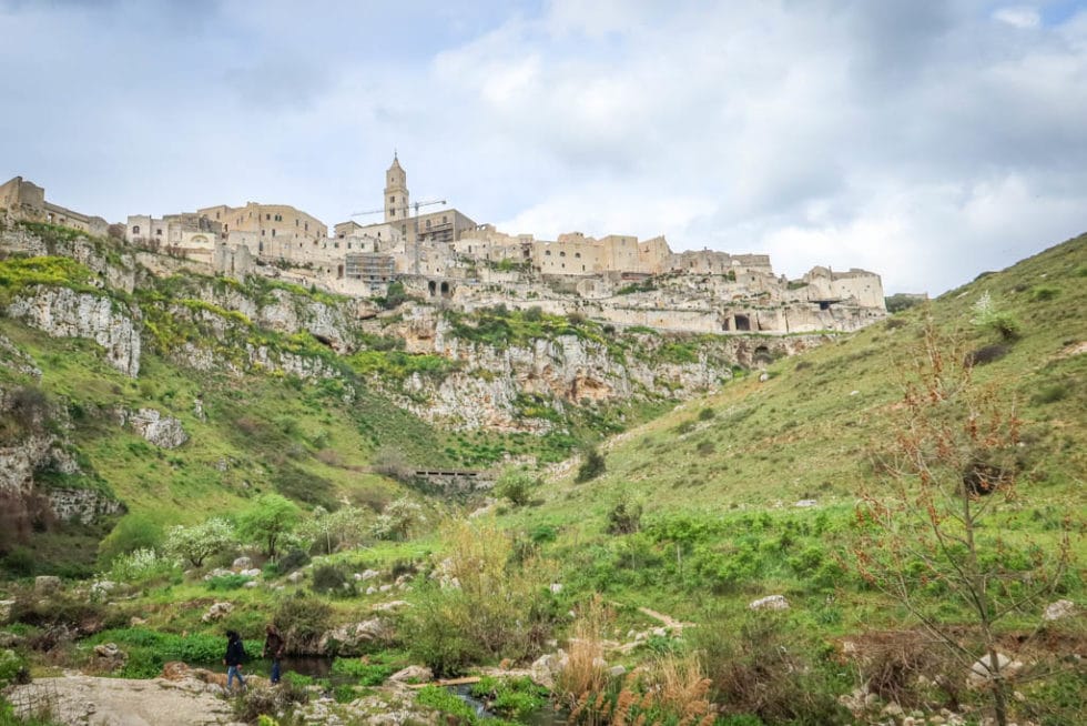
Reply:
[[[1067,569],[1069,543],[1067,526],[1048,545],[1006,536],[1002,505],[1017,494],[1022,422],[1014,402],[973,373],[928,321],[905,371],[895,436],[874,456],[880,481],[862,492],[855,556],[862,576],[904,605],[964,670],[984,664],[1004,726],[1018,666],[998,653],[997,625],[1039,615]],[[949,622],[949,604],[968,627]]]

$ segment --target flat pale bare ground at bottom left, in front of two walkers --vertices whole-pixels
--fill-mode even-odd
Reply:
[[[67,674],[19,686],[9,698],[17,713],[48,708],[53,718],[71,726],[235,724],[231,705],[216,690],[191,678],[128,680]]]

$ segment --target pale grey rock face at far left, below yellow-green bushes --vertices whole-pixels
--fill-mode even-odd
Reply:
[[[140,373],[140,334],[109,298],[38,285],[6,313],[53,337],[88,337],[105,350],[110,365],[132,377]]]

